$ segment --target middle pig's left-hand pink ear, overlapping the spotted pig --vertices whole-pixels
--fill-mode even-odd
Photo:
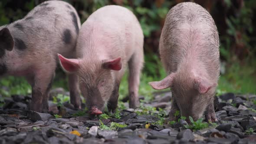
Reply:
[[[79,69],[79,59],[66,59],[58,54],[62,68],[67,72],[76,72]]]

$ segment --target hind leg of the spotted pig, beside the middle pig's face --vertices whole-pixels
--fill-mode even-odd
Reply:
[[[81,98],[79,95],[79,78],[75,74],[69,74],[70,102],[75,108],[81,108]]]

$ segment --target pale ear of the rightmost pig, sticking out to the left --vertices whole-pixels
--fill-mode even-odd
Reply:
[[[152,88],[157,90],[169,88],[173,84],[174,75],[175,73],[171,73],[159,82],[149,82],[148,84],[151,85]]]

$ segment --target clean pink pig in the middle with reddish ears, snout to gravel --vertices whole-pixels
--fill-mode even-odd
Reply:
[[[59,55],[63,69],[79,75],[80,90],[91,114],[102,114],[105,104],[109,111],[115,111],[127,65],[129,107],[139,105],[143,40],[136,16],[124,7],[110,5],[96,10],[82,24],[76,44],[79,59]]]

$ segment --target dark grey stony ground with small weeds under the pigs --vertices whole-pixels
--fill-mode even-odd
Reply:
[[[61,88],[56,88],[49,99],[55,99],[57,93],[67,95]],[[216,97],[214,106],[219,122],[201,130],[186,129],[184,120],[171,125],[159,123],[159,115],[168,114],[171,109],[171,92],[153,95],[154,100],[143,105],[163,110],[128,109],[128,103],[124,102],[126,108],[119,110],[118,116],[101,120],[85,116],[68,102],[60,109],[49,101],[51,114],[29,111],[31,95],[12,95],[4,99],[5,105],[0,108],[0,144],[256,143],[256,95],[226,93]],[[56,118],[54,113],[62,117]]]

